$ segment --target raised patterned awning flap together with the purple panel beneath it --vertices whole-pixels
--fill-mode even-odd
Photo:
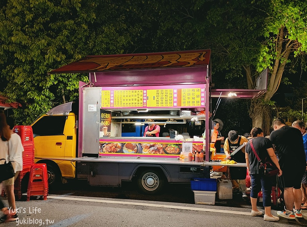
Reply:
[[[95,86],[209,83],[210,50],[87,56],[50,74],[88,73]]]

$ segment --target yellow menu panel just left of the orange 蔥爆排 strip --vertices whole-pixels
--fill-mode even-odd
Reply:
[[[173,107],[173,89],[147,90],[147,107]]]

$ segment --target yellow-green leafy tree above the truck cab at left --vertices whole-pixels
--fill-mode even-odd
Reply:
[[[8,0],[0,10],[3,95],[22,101],[15,110],[29,124],[54,105],[77,98],[86,75],[48,75],[86,55],[121,54],[141,31],[126,24],[127,7],[111,0]]]

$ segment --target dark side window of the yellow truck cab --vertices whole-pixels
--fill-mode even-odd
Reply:
[[[67,116],[45,116],[33,126],[34,136],[63,135]]]

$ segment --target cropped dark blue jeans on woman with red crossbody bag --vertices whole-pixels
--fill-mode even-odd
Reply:
[[[272,177],[266,177],[263,174],[251,174],[251,198],[257,199],[262,188],[263,206],[271,206],[273,180]]]

